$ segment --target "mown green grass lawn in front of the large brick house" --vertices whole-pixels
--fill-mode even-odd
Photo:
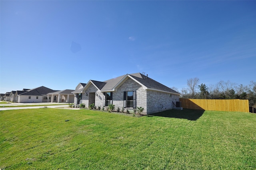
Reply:
[[[6,110],[0,128],[2,170],[256,169],[252,113]]]

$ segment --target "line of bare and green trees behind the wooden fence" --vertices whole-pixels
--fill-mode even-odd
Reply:
[[[256,82],[249,85],[238,85],[230,81],[221,80],[217,84],[199,84],[199,78],[187,80],[187,88],[182,88],[182,98],[193,99],[248,99],[249,106],[256,107]],[[174,87],[177,91],[177,88]]]

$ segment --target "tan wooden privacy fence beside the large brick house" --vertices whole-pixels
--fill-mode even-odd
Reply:
[[[182,108],[188,109],[249,112],[249,100],[180,98],[180,102]]]

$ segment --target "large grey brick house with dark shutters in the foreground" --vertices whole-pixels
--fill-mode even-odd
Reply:
[[[180,98],[180,93],[141,73],[126,74],[104,82],[89,80],[85,86],[81,85],[72,92],[74,103],[83,103],[86,107],[93,103],[96,107],[114,104],[115,108],[124,107],[126,110],[142,107],[144,114],[151,114],[172,109],[173,102]]]

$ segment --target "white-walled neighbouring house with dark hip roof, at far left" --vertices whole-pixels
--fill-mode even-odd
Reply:
[[[52,90],[52,89],[44,87],[44,86],[41,86],[38,88],[33,88],[30,90],[28,90],[28,89],[23,89],[23,90],[26,90],[26,91],[24,91],[21,94],[18,94],[18,92],[17,92],[17,96],[18,96],[17,101],[19,103],[48,102],[47,94],[59,91],[59,90]]]

